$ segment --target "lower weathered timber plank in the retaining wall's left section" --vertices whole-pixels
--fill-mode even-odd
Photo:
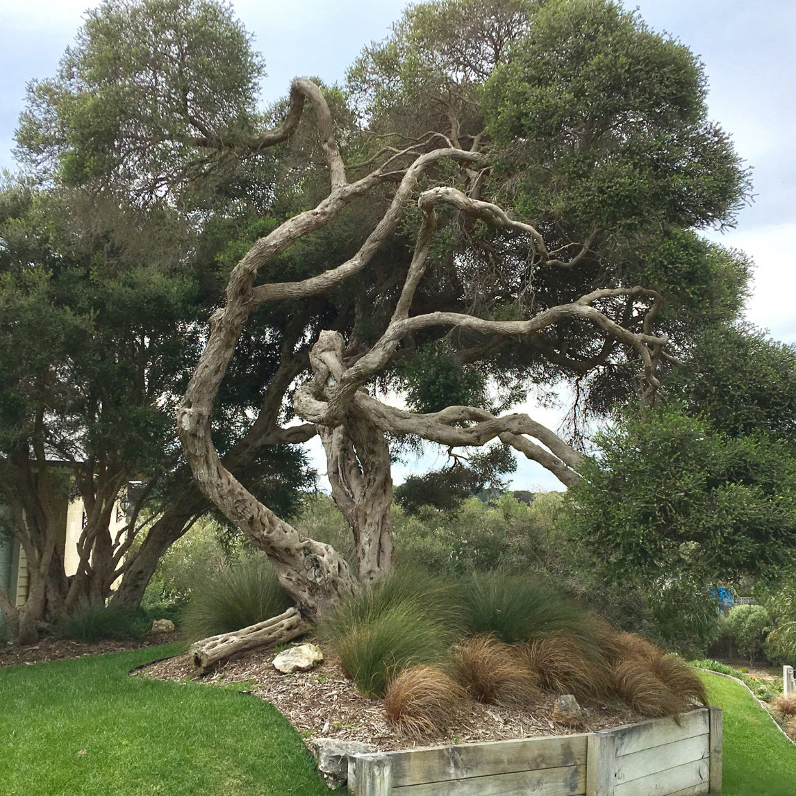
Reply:
[[[425,782],[392,789],[394,796],[584,796],[585,793],[584,765]]]

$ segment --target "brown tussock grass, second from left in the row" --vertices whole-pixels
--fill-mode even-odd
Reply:
[[[510,706],[537,700],[538,678],[516,645],[480,635],[456,645],[452,653],[456,680],[479,702]]]

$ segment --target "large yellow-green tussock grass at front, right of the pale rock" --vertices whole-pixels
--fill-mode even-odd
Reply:
[[[382,583],[343,599],[318,626],[365,696],[384,696],[411,665],[447,659],[457,632],[453,591],[443,581],[398,568]]]

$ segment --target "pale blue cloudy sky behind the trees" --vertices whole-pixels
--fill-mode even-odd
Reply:
[[[29,80],[53,76],[91,0],[0,0],[0,168],[14,169],[14,130]],[[389,33],[404,0],[236,0],[267,77],[265,103],[287,94],[295,76],[341,82],[361,48]],[[737,226],[709,232],[755,262],[746,316],[777,340],[796,343],[796,2],[638,0],[626,2],[658,33],[689,47],[708,76],[710,117],[732,135],[751,168],[754,200]],[[556,427],[560,412],[538,416]],[[443,463],[442,461],[437,464]],[[405,468],[396,468],[400,482]],[[514,489],[560,489],[533,462],[521,462]]]

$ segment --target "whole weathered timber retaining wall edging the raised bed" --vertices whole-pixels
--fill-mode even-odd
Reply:
[[[349,756],[352,796],[721,793],[720,708],[571,736]]]

